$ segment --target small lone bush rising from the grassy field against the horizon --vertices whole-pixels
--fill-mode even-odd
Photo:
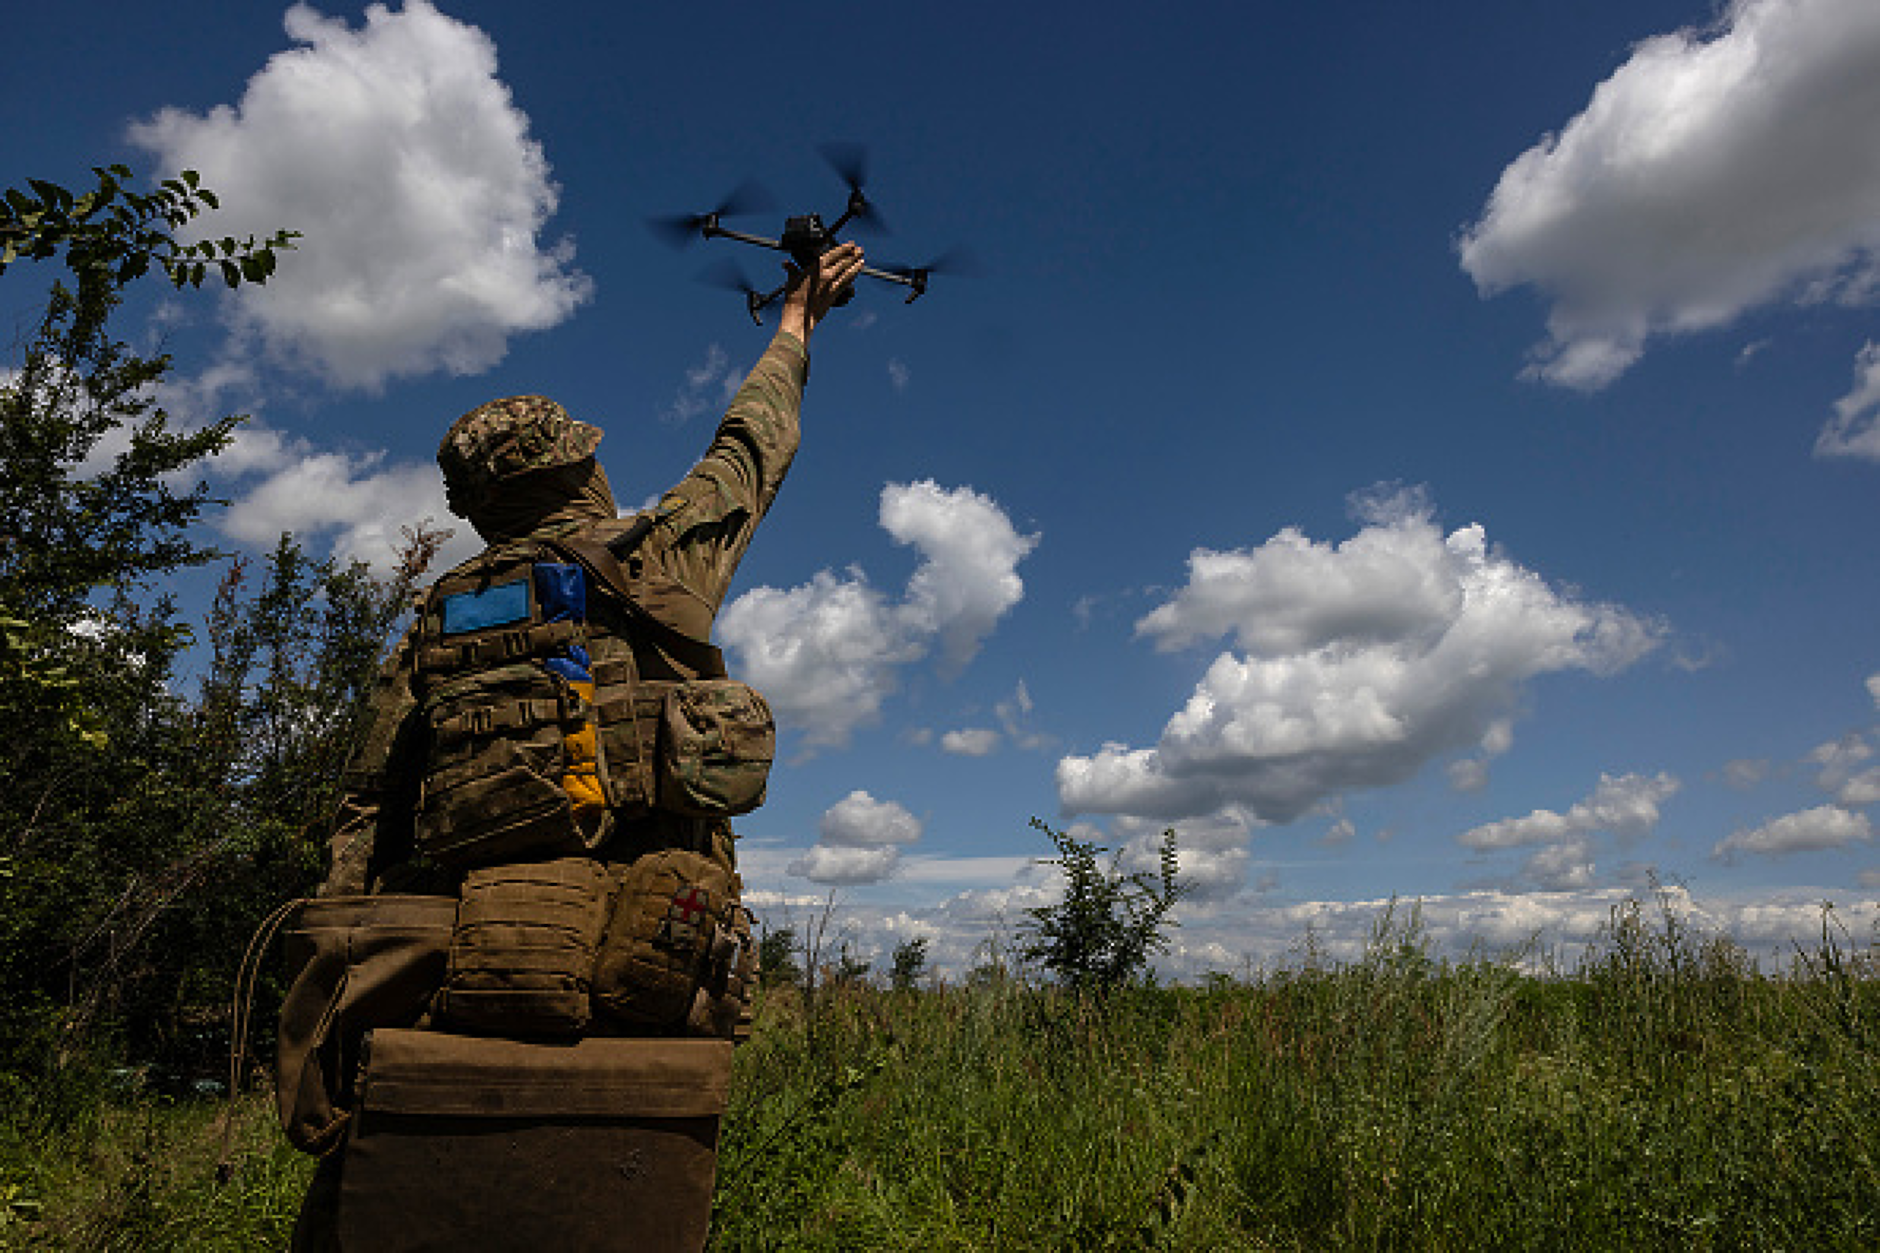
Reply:
[[[1122,852],[1100,865],[1107,849],[1075,839],[1032,818],[1051,837],[1058,856],[1045,858],[1064,871],[1064,899],[1025,911],[1021,956],[1079,993],[1107,995],[1147,971],[1149,958],[1167,948],[1169,911],[1183,897],[1177,882],[1173,828],[1162,833],[1160,873],[1122,873]]]

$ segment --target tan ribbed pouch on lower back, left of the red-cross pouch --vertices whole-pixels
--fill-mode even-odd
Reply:
[[[611,888],[590,858],[470,871],[438,1022],[472,1035],[577,1035],[588,1023]]]

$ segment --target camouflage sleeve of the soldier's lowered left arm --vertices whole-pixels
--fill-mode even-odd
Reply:
[[[372,689],[365,743],[346,766],[329,843],[333,864],[320,896],[357,896],[384,877],[385,867],[414,854],[417,811],[412,640],[415,625],[393,651]]]

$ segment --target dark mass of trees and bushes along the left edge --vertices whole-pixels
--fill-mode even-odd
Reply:
[[[235,954],[318,873],[308,824],[436,546],[414,536],[406,568],[376,579],[284,538],[256,591],[235,561],[186,692],[201,636],[156,583],[216,559],[194,531],[209,489],[188,484],[237,418],[177,427],[156,401],[169,357],[111,318],[152,271],[265,282],[291,235],[186,245],[177,231],[216,205],[194,173],[154,192],[96,175],[83,196],[0,194],[0,269],[66,271],[0,374],[0,1099],[49,1118],[70,1114],[77,1061],[169,1084],[220,1071]]]

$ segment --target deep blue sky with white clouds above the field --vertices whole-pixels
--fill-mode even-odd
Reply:
[[[1017,9],[1017,11],[1015,11]],[[370,561],[442,429],[541,391],[622,502],[761,352],[650,214],[750,177],[978,273],[816,337],[720,638],[784,728],[773,924],[972,960],[1051,899],[1032,815],[1196,894],[1169,973],[1575,952],[1669,886],[1778,954],[1880,896],[1880,9],[41,6],[6,182],[190,166],[265,292],[128,325],[248,412],[231,547]],[[36,284],[0,292],[17,322]],[[1867,538],[1863,538],[1867,536]],[[461,555],[468,546],[459,544]],[[188,589],[184,589],[188,591]]]

